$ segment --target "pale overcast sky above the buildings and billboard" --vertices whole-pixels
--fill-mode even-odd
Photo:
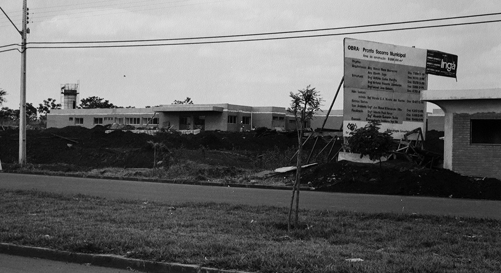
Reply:
[[[0,7],[21,29],[22,1],[3,0]],[[28,42],[88,42],[299,31],[476,15],[501,12],[501,2],[28,0],[28,8]],[[499,19],[501,15],[289,36]],[[27,102],[35,106],[47,98],[60,102],[61,84],[80,83],[80,99],[98,96],[123,107],[171,104],[186,97],[192,98],[195,104],[288,107],[290,92],[311,85],[324,100],[322,109],[328,109],[343,77],[343,39],[346,37],[458,55],[457,81],[430,75],[428,89],[499,88],[499,29],[501,22],[231,43],[29,48]],[[284,36],[287,35],[261,38]],[[0,46],[20,43],[20,38],[7,17],[0,13]],[[6,48],[13,47],[0,48],[0,51]],[[0,53],[0,88],[8,93],[4,107],[19,108],[20,59],[18,51]],[[333,109],[342,108],[341,91]],[[429,104],[428,111],[432,108],[438,107]]]

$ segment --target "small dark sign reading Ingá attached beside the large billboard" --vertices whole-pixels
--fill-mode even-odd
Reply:
[[[458,56],[440,51],[429,50],[426,53],[426,73],[443,77],[456,78]]]

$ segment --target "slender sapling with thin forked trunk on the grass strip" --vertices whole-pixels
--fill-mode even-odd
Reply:
[[[296,130],[298,139],[298,153],[296,162],[296,180],[292,187],[292,197],[291,206],[289,208],[289,217],[287,220],[287,229],[291,231],[291,216],[292,208],[294,204],[294,197],[296,197],[296,218],[294,221],[294,227],[298,226],[299,218],[299,185],[301,183],[301,156],[303,153],[303,132],[304,125],[308,120],[313,118],[315,112],[320,109],[322,103],[322,98],[320,98],[319,93],[315,88],[310,88],[308,85],[306,89],[298,90],[298,93],[291,92],[290,96],[292,98],[291,108],[288,110],[294,114],[296,119]]]

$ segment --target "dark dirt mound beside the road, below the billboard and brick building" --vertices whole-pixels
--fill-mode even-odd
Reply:
[[[303,181],[324,191],[501,200],[501,181],[497,179],[474,179],[400,160],[381,166],[328,163],[305,170]]]

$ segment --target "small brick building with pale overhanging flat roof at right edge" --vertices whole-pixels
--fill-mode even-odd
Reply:
[[[444,111],[444,168],[501,179],[501,89],[425,90]]]

